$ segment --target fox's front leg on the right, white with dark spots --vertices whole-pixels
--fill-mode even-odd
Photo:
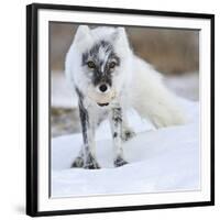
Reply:
[[[128,164],[123,158],[123,148],[122,148],[122,109],[120,106],[113,107],[111,109],[111,130],[113,136],[113,147],[114,147],[114,166],[119,167]]]

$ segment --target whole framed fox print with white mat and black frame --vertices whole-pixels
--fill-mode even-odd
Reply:
[[[26,7],[26,213],[215,204],[215,15]]]

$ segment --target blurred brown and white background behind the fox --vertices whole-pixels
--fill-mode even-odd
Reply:
[[[52,136],[80,132],[76,95],[69,89],[64,74],[65,56],[77,26],[50,22]],[[133,52],[161,72],[174,92],[194,101],[199,99],[199,31],[125,29]]]

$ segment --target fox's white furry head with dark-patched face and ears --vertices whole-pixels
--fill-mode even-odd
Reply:
[[[85,96],[120,94],[129,78],[131,50],[123,28],[79,25],[66,58],[72,82]]]

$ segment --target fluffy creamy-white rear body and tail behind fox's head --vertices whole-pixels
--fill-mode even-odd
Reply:
[[[130,100],[133,108],[156,128],[177,125],[186,122],[186,116],[177,97],[163,84],[162,76],[139,57],[133,57],[133,73]]]

